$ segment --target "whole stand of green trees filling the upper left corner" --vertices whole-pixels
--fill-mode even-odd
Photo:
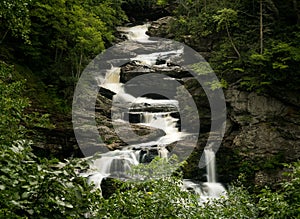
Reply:
[[[57,105],[70,104],[84,67],[111,45],[116,26],[127,20],[121,4],[109,0],[1,1],[0,58],[28,66],[33,77],[49,86]]]

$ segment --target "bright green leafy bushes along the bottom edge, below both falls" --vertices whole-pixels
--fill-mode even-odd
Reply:
[[[177,177],[125,182],[111,197],[102,199],[96,218],[297,218],[299,162],[277,192],[262,189],[250,194],[231,186],[227,197],[200,203],[199,196],[182,190]]]

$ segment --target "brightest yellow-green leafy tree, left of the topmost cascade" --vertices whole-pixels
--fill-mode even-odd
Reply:
[[[50,63],[44,64],[55,67],[57,77],[68,70],[67,76],[77,78],[83,66],[113,40],[115,26],[126,19],[117,10],[119,6],[110,1],[36,1],[30,11],[34,42],[25,52],[30,51],[34,59],[51,55]],[[66,64],[69,69],[63,68]]]

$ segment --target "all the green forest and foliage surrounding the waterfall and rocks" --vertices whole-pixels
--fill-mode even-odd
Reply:
[[[199,52],[224,90],[235,86],[282,101],[299,130],[298,0],[3,0],[1,218],[299,218],[299,148],[296,158],[278,154],[263,164],[283,170],[276,184],[245,179],[260,163],[236,160],[242,164],[232,164],[239,169],[228,182],[228,197],[204,205],[180,189],[185,168],[141,183],[112,180],[106,197],[78,176],[88,167],[69,138],[43,148],[49,135],[72,135],[76,83],[96,55],[122,40],[117,27],[165,16],[171,17],[167,25],[150,29],[151,35]],[[299,132],[285,134],[299,139]],[[154,159],[149,168],[160,162],[168,161]]]

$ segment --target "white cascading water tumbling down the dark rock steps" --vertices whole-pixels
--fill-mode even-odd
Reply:
[[[149,36],[146,35],[148,24],[139,25],[135,27],[123,27],[119,28],[129,40],[134,40],[143,43],[150,43]],[[131,58],[131,61],[138,61],[143,65],[156,66],[156,62],[159,59],[167,60],[163,67],[167,67],[169,56],[177,56],[183,53],[183,49],[150,53],[144,55],[138,55]],[[126,93],[124,86],[120,83],[120,67],[111,66],[111,69],[107,70],[105,78],[99,79],[101,87],[108,89],[115,94],[118,94],[118,98],[121,98],[123,102],[136,103],[137,105],[150,105],[150,106],[172,106],[178,108],[177,100],[166,99],[151,99],[145,97],[134,97]],[[115,98],[115,96],[113,97]],[[114,99],[116,100],[116,99]],[[125,100],[125,101],[124,101]],[[117,101],[117,100],[116,100]],[[122,103],[122,101],[119,101]],[[117,101],[118,102],[118,101]],[[136,109],[135,109],[136,110]],[[157,156],[162,158],[168,158],[169,150],[167,145],[179,141],[185,133],[179,131],[177,127],[178,118],[171,116],[174,111],[163,112],[148,112],[148,111],[134,111],[131,112],[138,118],[136,123],[140,123],[143,126],[149,126],[155,129],[161,129],[165,132],[165,136],[158,138],[155,141],[145,142],[137,145],[129,145],[122,150],[110,151],[101,155],[97,155],[91,159],[90,170],[84,174],[89,177],[89,182],[94,183],[97,188],[100,188],[103,178],[108,176],[118,176],[119,178],[128,177],[126,172],[131,169],[133,165],[144,163],[149,161],[152,146],[156,146]],[[124,116],[124,115],[123,115]],[[119,119],[119,120],[122,120]],[[200,195],[201,202],[207,201],[209,198],[217,198],[221,195],[225,195],[224,187],[216,182],[216,165],[215,165],[215,153],[211,149],[205,149],[205,158],[207,163],[207,182],[206,183],[194,183],[190,180],[183,181],[184,188],[191,188],[196,194]]]

